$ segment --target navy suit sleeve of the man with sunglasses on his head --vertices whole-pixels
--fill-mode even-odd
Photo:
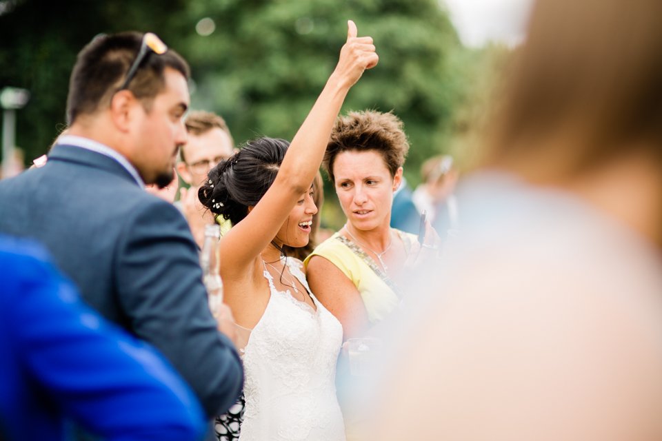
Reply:
[[[134,209],[121,236],[119,302],[131,329],[172,362],[207,415],[220,415],[241,391],[241,360],[209,310],[188,224],[172,204],[153,199]]]

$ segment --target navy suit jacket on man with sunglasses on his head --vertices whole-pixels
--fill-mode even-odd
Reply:
[[[0,181],[0,232],[46,245],[89,305],[170,360],[208,416],[234,404],[241,362],[209,311],[188,224],[113,158],[56,145],[43,167]]]

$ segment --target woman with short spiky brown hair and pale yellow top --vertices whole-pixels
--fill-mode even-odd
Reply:
[[[405,261],[436,254],[438,236],[429,225],[422,247],[416,236],[390,227],[408,151],[402,121],[390,112],[350,112],[333,127],[323,167],[347,222],[305,265],[310,287],[343,324],[345,339],[363,336],[396,309]]]

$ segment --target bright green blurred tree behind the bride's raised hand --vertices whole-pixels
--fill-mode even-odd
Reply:
[[[452,60],[462,51],[436,0],[217,0],[194,2],[191,24],[216,23],[208,37],[189,34],[182,50],[194,68],[194,105],[228,120],[235,138],[291,139],[337,61],[346,21],[370,35],[380,55],[343,109],[393,110],[412,150],[408,176],[444,150],[461,94]]]

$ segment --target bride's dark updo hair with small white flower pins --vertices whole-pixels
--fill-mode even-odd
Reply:
[[[290,143],[258,138],[212,168],[198,190],[201,203],[237,225],[271,187]]]

